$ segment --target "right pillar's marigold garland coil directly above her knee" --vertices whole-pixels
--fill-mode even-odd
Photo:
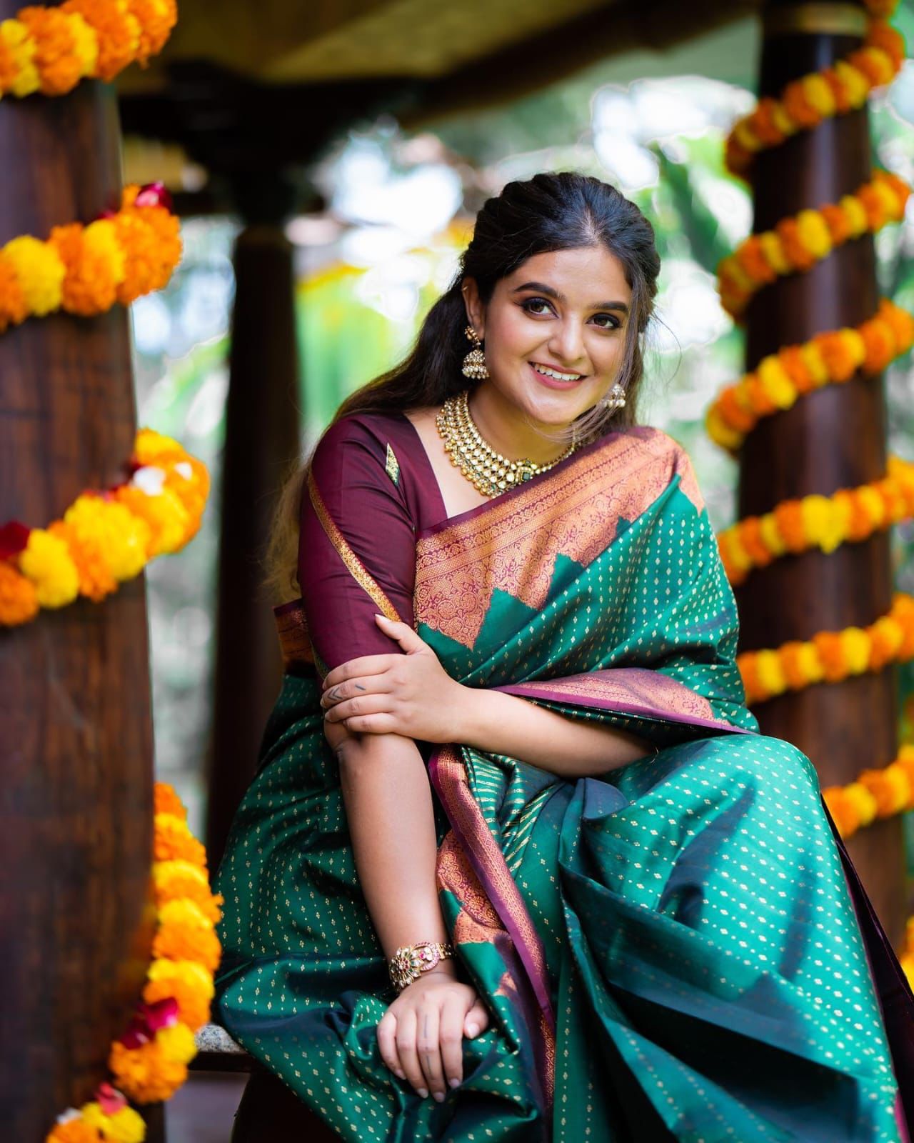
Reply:
[[[820,631],[808,641],[748,650],[736,662],[746,688],[746,702],[761,703],[785,690],[813,682],[841,682],[852,674],[880,671],[888,663],[914,656],[914,597],[896,592],[891,610],[867,628]]]

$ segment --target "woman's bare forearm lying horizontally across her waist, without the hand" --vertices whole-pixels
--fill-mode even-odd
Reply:
[[[568,718],[503,690],[464,690],[460,742],[562,777],[606,774],[654,749],[626,730]]]

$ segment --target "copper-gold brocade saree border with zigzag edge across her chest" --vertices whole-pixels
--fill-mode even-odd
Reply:
[[[704,502],[688,455],[657,429],[635,427],[571,457],[558,472],[496,497],[416,544],[414,615],[472,648],[498,589],[540,610],[559,553],[583,567],[680,478],[698,511]]]

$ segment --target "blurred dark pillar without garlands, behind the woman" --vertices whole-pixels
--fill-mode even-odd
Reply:
[[[282,677],[275,600],[262,588],[273,507],[298,459],[298,354],[291,209],[270,175],[235,185],[248,225],[234,251],[235,302],[225,413],[218,566],[216,693],[207,850],[215,869],[232,815],[254,776],[264,726]]]

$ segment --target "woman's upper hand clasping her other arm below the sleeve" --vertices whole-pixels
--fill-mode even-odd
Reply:
[[[407,623],[383,615],[376,622],[406,655],[364,655],[334,668],[323,680],[324,724],[425,742],[459,742],[467,688],[451,679]]]

